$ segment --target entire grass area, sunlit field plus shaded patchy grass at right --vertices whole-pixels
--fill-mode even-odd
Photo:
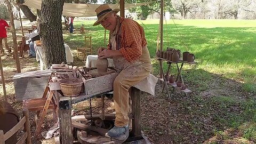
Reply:
[[[101,26],[92,27],[93,22],[75,21],[76,33],[63,35],[65,42],[72,49],[76,49],[84,45],[83,35],[92,36],[93,53],[96,54],[97,47],[104,46],[104,29]],[[153,74],[159,75],[159,65],[155,59],[159,20],[138,22],[145,29],[154,67]],[[82,24],[86,34],[77,34]],[[215,120],[211,128],[215,135],[229,138],[225,134],[225,129],[229,127],[239,129],[243,138],[255,142],[256,20],[169,20],[164,21],[163,35],[164,50],[166,47],[174,47],[181,52],[189,51],[195,54],[197,61],[196,65],[185,65],[183,69],[183,77],[193,84],[190,88],[196,91],[193,97],[189,98],[191,101],[179,101],[178,98],[174,98],[174,101],[180,102],[185,108],[188,107],[186,113],[198,117],[213,117]],[[166,64],[164,69],[167,69]],[[177,70],[172,69],[172,73],[177,73]],[[242,90],[237,90],[237,93],[242,91],[241,93],[252,96],[239,99],[236,92],[225,94],[225,87],[227,90],[235,90],[236,85],[224,84],[223,79],[232,79],[236,84],[242,85]],[[212,82],[222,89],[218,91],[217,97],[199,96],[200,92],[215,86]],[[193,119],[189,122],[195,135],[204,134],[201,126],[203,123],[203,120],[194,122]]]

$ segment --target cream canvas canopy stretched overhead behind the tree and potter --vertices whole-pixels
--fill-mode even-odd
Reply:
[[[156,2],[156,1],[153,1]],[[133,3],[125,4],[124,9],[131,9],[136,6],[146,5],[153,2],[144,2],[144,3]],[[41,10],[41,0],[28,0],[23,5],[29,7],[34,7],[35,9]],[[64,3],[62,15],[67,17],[92,17],[95,16],[95,9],[101,4],[74,4],[74,3]],[[120,8],[119,4],[109,4],[111,9]]]

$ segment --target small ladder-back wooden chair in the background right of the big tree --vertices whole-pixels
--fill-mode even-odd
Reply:
[[[86,57],[89,54],[92,54],[92,37],[84,36],[85,47],[77,48],[77,57],[79,57],[79,52],[83,52],[84,61],[86,61]]]

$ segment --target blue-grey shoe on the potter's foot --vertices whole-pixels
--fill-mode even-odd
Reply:
[[[114,126],[111,130],[108,131],[108,136],[111,138],[116,138],[116,139],[123,139],[126,137],[126,139],[129,136],[129,128],[128,125],[123,126],[123,127],[117,127]]]

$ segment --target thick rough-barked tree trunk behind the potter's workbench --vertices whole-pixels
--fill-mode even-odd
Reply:
[[[45,69],[53,63],[66,62],[61,26],[63,4],[64,0],[42,0],[39,35],[42,41]]]

